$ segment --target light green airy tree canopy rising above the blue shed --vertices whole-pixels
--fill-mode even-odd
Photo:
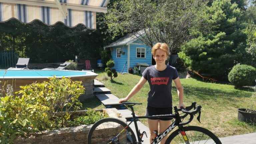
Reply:
[[[199,26],[204,4],[201,0],[120,0],[105,16],[107,31],[113,38],[132,33],[150,47],[164,42],[170,53],[177,53],[190,38],[188,30]]]

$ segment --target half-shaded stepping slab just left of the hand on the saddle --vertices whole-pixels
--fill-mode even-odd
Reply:
[[[104,105],[120,105],[119,98],[113,94],[95,94]]]

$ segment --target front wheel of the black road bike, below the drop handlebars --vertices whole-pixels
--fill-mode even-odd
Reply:
[[[221,144],[219,138],[205,128],[186,126],[183,130],[174,131],[165,144]]]

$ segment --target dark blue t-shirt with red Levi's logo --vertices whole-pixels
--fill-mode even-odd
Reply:
[[[168,66],[158,71],[155,66],[147,67],[142,76],[148,81],[148,106],[172,107],[172,80],[179,77],[175,67]]]

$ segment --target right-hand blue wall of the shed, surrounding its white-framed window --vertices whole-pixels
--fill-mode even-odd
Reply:
[[[146,48],[145,54],[146,58],[136,58],[136,48]],[[151,54],[151,47],[139,44],[139,41],[135,41],[130,44],[130,67],[137,65],[137,63],[147,63],[151,65],[152,63],[152,54]]]

